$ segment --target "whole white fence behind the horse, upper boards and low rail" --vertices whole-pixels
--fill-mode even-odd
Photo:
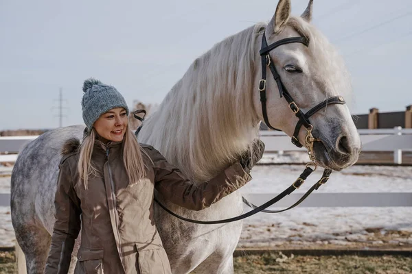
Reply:
[[[412,129],[359,129],[363,151],[394,151],[394,163],[401,164],[402,151],[412,151]],[[38,136],[0,137],[0,152],[18,153],[21,148]],[[266,152],[304,151],[290,142],[283,132],[261,131],[260,138],[266,145]],[[17,154],[0,155],[0,162],[15,162]],[[248,196],[252,203],[260,204],[276,194],[255,194]],[[297,201],[301,194],[288,195],[278,206],[288,206]],[[10,193],[0,193],[0,206],[10,205]],[[412,192],[402,193],[313,193],[300,207],[398,207],[412,206]]]

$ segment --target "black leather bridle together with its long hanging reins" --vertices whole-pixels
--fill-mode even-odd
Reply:
[[[297,116],[297,118],[299,118],[299,121],[297,122],[297,125],[295,127],[295,132],[293,133],[293,136],[292,136],[292,142],[297,147],[303,147],[303,145],[301,145],[301,143],[298,140],[298,135],[299,135],[299,131],[300,131],[300,128],[301,128],[302,125],[306,128],[306,137],[305,137],[305,144],[304,145],[305,145],[306,149],[308,149],[308,155],[309,155],[309,158],[310,158],[310,162],[308,162],[308,164],[306,164],[306,168],[305,168],[304,172],[302,172],[301,175],[299,175],[299,177],[296,179],[296,181],[293,182],[293,184],[291,184],[288,188],[286,188],[286,190],[284,190],[282,193],[280,193],[279,195],[277,195],[276,197],[274,197],[270,201],[267,201],[266,203],[262,204],[262,206],[255,206],[253,203],[250,203],[249,201],[247,201],[247,199],[242,197],[243,203],[245,203],[250,208],[253,208],[253,210],[251,210],[247,213],[241,214],[239,216],[229,218],[229,219],[222,219],[222,220],[216,220],[216,221],[200,221],[200,220],[187,219],[183,216],[180,216],[180,215],[172,212],[168,208],[166,208],[163,205],[163,203],[161,203],[155,197],[155,202],[157,204],[159,204],[159,206],[161,208],[163,208],[163,210],[165,210],[166,212],[168,212],[169,214],[175,216],[178,219],[181,219],[183,221],[187,221],[187,222],[190,222],[190,223],[198,223],[198,224],[202,224],[202,225],[215,225],[215,224],[220,224],[220,223],[230,223],[230,222],[233,222],[233,221],[239,221],[239,220],[245,219],[245,218],[247,218],[249,216],[252,216],[252,215],[254,215],[258,212],[279,213],[279,212],[284,212],[286,210],[290,210],[292,208],[295,208],[302,201],[304,201],[306,199],[306,197],[308,197],[310,195],[310,193],[312,193],[314,190],[317,190],[322,184],[325,184],[326,182],[328,182],[330,173],[332,173],[332,169],[325,169],[323,171],[323,175],[322,175],[321,179],[319,179],[319,181],[316,184],[314,184],[301,197],[301,199],[299,199],[292,206],[290,206],[288,208],[285,208],[283,210],[266,210],[266,208],[268,208],[268,207],[272,206],[273,204],[277,203],[277,201],[280,201],[281,199],[286,197],[286,195],[290,195],[290,193],[292,193],[297,188],[299,188],[299,186],[304,184],[306,178],[310,174],[312,174],[313,171],[315,171],[317,169],[317,164],[315,162],[315,156],[314,156],[314,151],[313,151],[313,144],[314,144],[314,142],[319,141],[319,139],[314,138],[312,136],[313,125],[310,124],[310,121],[309,121],[310,116],[312,116],[314,113],[318,112],[322,108],[325,108],[325,106],[328,105],[328,104],[331,104],[331,103],[344,104],[345,103],[345,100],[343,99],[343,97],[335,96],[335,97],[330,97],[330,98],[326,99],[325,101],[319,103],[318,105],[315,105],[313,108],[311,108],[306,113],[301,111],[301,109],[298,107],[297,103],[295,103],[295,100],[293,99],[293,97],[290,95],[290,93],[288,92],[288,90],[286,89],[284,84],[282,83],[282,79],[280,79],[280,75],[279,75],[279,73],[277,73],[275,65],[273,64],[273,61],[271,60],[271,56],[269,55],[269,52],[272,51],[273,49],[275,49],[275,48],[277,48],[281,45],[286,45],[286,44],[294,43],[294,42],[299,42],[301,44],[304,44],[306,47],[309,46],[309,39],[305,38],[305,37],[284,38],[282,40],[274,42],[271,45],[267,45],[266,36],[265,36],[265,34],[263,34],[263,36],[262,36],[262,49],[260,49],[260,56],[261,56],[261,60],[262,60],[262,79],[259,82],[259,91],[260,91],[260,101],[262,103],[262,114],[263,114],[264,122],[266,123],[266,125],[269,128],[279,130],[279,129],[276,129],[275,127],[271,126],[271,124],[269,123],[268,115],[267,115],[267,111],[266,111],[266,66],[268,66],[268,68],[270,69],[270,71],[273,75],[273,79],[275,79],[275,82],[277,84],[277,88],[279,89],[280,97],[281,98],[284,97],[286,99],[286,101],[288,102],[290,110],[292,110],[292,112],[295,114],[295,116]],[[142,111],[137,110],[136,112],[133,112],[133,115],[135,116],[136,119],[139,119],[139,121],[143,122],[144,118],[141,119],[139,116],[136,115],[137,113],[140,113],[140,112],[142,112]],[[146,112],[145,112],[145,114],[146,114]],[[136,137],[137,137],[137,134],[139,134],[140,129],[141,129],[142,126],[143,126],[143,124],[140,125],[139,128],[137,128],[137,130],[135,132]],[[310,166],[313,166],[313,169]]]

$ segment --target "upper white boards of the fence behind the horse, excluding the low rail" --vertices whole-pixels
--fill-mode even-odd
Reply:
[[[362,151],[393,151],[393,163],[402,164],[402,151],[412,151],[412,129],[359,129]],[[38,136],[0,137],[0,152],[18,153],[21,148]],[[284,132],[260,131],[266,152],[304,151],[295,147]],[[16,154],[0,155],[0,162],[15,162]]]

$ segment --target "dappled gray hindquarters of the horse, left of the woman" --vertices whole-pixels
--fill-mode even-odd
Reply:
[[[19,153],[11,177],[11,215],[19,262],[27,273],[43,273],[54,224],[54,195],[62,145],[81,138],[84,126],[53,129],[27,144]],[[23,255],[24,253],[24,255]],[[25,258],[24,258],[25,257]],[[24,266],[19,269],[23,272]]]

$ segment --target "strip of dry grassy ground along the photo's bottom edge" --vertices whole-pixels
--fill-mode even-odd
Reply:
[[[0,274],[16,273],[14,262],[13,252],[0,252]],[[244,253],[243,256],[234,258],[234,265],[236,274],[412,273],[412,258],[400,256],[285,256],[275,252],[249,256]]]

